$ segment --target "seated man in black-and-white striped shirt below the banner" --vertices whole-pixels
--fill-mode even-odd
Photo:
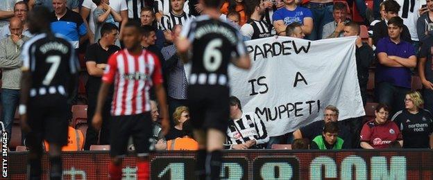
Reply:
[[[262,149],[269,136],[263,121],[254,112],[242,112],[241,101],[230,96],[230,120],[224,147],[232,150]]]

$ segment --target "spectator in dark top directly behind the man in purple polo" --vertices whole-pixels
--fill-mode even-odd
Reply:
[[[389,37],[388,21],[393,17],[398,17],[398,12],[400,11],[400,5],[398,5],[398,3],[394,0],[384,1],[383,3],[387,15],[384,20],[378,22],[377,24],[375,24],[375,26],[373,26],[372,38],[373,38],[373,44],[375,44],[376,47],[377,47],[377,42],[379,42],[380,39],[382,39],[383,37]],[[411,43],[412,39],[407,26],[403,24],[401,31],[402,31],[400,32],[401,39],[404,40],[405,42]]]

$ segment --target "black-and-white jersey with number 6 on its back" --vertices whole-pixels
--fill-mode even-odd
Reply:
[[[187,21],[180,36],[192,43],[189,84],[228,86],[228,63],[246,54],[239,30],[228,21],[202,15]]]

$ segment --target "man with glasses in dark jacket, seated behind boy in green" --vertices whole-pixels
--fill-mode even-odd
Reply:
[[[332,105],[325,107],[325,111],[323,111],[323,120],[316,121],[311,123],[305,127],[301,127],[293,133],[294,139],[297,138],[307,138],[309,141],[312,141],[316,136],[319,136],[323,132],[323,128],[325,127],[325,123],[329,122],[337,122],[339,116],[339,109]],[[338,136],[344,140],[344,149],[348,149],[352,146],[350,129],[343,125],[343,123],[339,122],[339,134]]]

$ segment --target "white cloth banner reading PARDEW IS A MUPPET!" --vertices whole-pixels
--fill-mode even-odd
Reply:
[[[268,37],[246,42],[250,71],[230,66],[231,93],[262,118],[269,136],[293,132],[335,105],[339,120],[364,116],[355,62],[356,37],[308,41]]]

